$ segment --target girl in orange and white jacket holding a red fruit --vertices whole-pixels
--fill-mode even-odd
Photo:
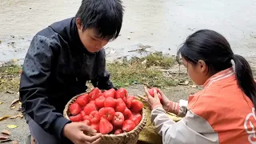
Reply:
[[[256,143],[256,84],[245,58],[234,54],[229,42],[213,30],[198,30],[178,50],[190,78],[203,90],[188,102],[143,98],[152,108],[151,120],[163,143]],[[232,62],[234,61],[234,68]],[[175,123],[166,111],[184,116]]]

